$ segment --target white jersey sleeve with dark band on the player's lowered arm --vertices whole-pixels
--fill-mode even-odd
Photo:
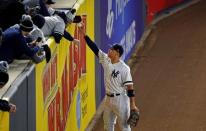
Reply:
[[[125,72],[123,73],[123,85],[133,85],[132,76],[129,68],[126,68]]]

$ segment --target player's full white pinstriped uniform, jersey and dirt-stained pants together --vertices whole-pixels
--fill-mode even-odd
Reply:
[[[114,124],[118,117],[118,123],[122,131],[131,131],[127,124],[130,113],[130,101],[126,95],[126,85],[133,84],[130,68],[122,60],[112,64],[110,58],[99,50],[99,62],[104,68],[104,82],[106,93],[120,94],[114,97],[105,97],[104,128],[114,131]]]

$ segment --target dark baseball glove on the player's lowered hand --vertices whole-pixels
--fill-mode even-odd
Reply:
[[[130,111],[129,119],[127,120],[127,124],[129,124],[132,127],[135,127],[139,121],[139,112],[136,110]]]

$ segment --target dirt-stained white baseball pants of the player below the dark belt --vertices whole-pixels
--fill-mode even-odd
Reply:
[[[128,96],[126,94],[114,97],[106,96],[104,102],[104,130],[114,131],[114,125],[117,120],[122,131],[131,131],[130,126],[127,124],[130,113]]]

